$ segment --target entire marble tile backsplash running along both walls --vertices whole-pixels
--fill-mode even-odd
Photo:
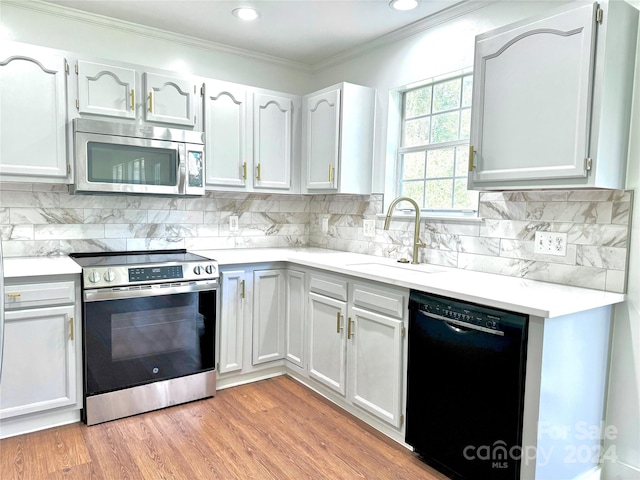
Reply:
[[[480,195],[480,219],[423,219],[420,261],[623,292],[632,192]],[[314,246],[411,257],[413,216],[383,230],[383,196],[209,192],[199,198],[69,195],[66,186],[0,184],[7,257],[101,250]],[[238,231],[229,217],[238,216]],[[322,232],[322,219],[329,230]],[[364,237],[362,221],[376,222]],[[536,231],[565,232],[567,255],[533,251]]]

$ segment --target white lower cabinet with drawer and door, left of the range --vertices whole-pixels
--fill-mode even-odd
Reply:
[[[37,429],[38,414],[75,410],[79,419],[82,362],[77,288],[77,281],[7,282],[0,382],[2,436],[23,433],[17,423],[20,418]]]

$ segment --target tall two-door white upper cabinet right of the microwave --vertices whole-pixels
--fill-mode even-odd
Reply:
[[[296,95],[206,80],[207,188],[298,193],[299,106]]]

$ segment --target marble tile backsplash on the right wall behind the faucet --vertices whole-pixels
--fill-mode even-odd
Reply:
[[[565,285],[624,292],[631,191],[571,190],[481,193],[480,219],[423,219],[420,262]],[[383,230],[382,195],[325,196],[311,201],[312,246],[411,258],[414,216]],[[329,232],[320,228],[329,219]],[[362,235],[362,220],[376,235]],[[567,255],[534,253],[537,231],[567,234]]]

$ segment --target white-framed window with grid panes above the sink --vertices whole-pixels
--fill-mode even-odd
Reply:
[[[473,75],[432,81],[402,94],[397,192],[424,210],[476,211],[467,191]]]

